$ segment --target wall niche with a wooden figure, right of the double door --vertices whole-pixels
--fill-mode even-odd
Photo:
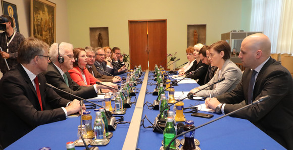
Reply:
[[[187,25],[187,47],[197,43],[206,44],[207,25]]]

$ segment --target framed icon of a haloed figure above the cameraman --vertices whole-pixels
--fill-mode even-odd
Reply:
[[[9,15],[12,18],[13,24],[14,24],[13,29],[19,32],[16,5],[2,1],[2,11],[3,11],[3,15]]]

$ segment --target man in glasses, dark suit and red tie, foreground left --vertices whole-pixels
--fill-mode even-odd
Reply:
[[[25,39],[20,44],[17,60],[20,64],[0,80],[0,144],[3,148],[38,125],[65,120],[67,115],[80,111],[78,100],[71,102],[46,86],[41,74],[50,60],[45,42],[33,37]]]

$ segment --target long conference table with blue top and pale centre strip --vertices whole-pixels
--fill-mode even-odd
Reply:
[[[106,146],[98,146],[99,149],[159,149],[162,146],[163,134],[153,132],[153,128],[143,128],[140,126],[141,119],[146,115],[151,122],[159,114],[159,110],[150,110],[144,106],[145,102],[153,103],[157,96],[152,95],[156,85],[153,72],[146,70],[144,76],[139,79],[142,84],[136,86],[139,93],[136,97],[132,96],[131,102],[137,98],[136,105],[128,108],[124,116],[124,121],[130,124],[118,124],[117,129],[110,138],[110,143]],[[121,76],[125,76],[121,75]],[[175,91],[189,91],[198,84],[178,84],[174,86]],[[89,99],[89,101],[102,105],[101,99]],[[183,100],[184,107],[203,104],[204,101],[192,99]],[[85,103],[87,104],[87,103]],[[114,107],[114,103],[112,103]],[[171,110],[173,107],[171,107]],[[200,109],[199,109],[200,110]],[[95,112],[91,111],[92,120],[95,118]],[[199,111],[200,113],[213,114],[211,119],[192,117],[190,114],[184,114],[187,120],[193,120],[194,126],[199,126],[208,121],[222,116],[222,114]],[[67,118],[63,121],[44,124],[36,127],[34,130],[11,144],[5,149],[39,149],[48,146],[53,149],[66,149],[66,142],[77,139],[77,127],[80,124],[80,118]],[[144,120],[145,126],[152,126],[151,123]],[[179,137],[182,139],[183,136]],[[225,117],[209,125],[201,127],[195,131],[194,138],[200,141],[201,149],[285,149],[267,134],[258,129],[255,125],[245,119],[234,117]],[[180,146],[181,147],[181,146]],[[75,146],[76,150],[85,149],[84,146]]]

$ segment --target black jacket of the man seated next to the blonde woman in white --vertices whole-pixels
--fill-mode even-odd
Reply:
[[[198,71],[196,74],[188,75],[188,78],[191,78],[193,80],[199,79],[198,84],[204,85],[205,77],[206,77],[206,74],[207,74],[209,66],[204,64],[204,63],[202,63],[202,61],[200,61],[199,63],[196,63],[196,61],[194,61],[193,65],[192,65],[192,67],[190,69],[191,69],[191,71],[195,71],[198,68],[200,68],[201,66],[203,66],[203,68],[200,71]],[[189,70],[186,71],[186,72],[191,72]]]

